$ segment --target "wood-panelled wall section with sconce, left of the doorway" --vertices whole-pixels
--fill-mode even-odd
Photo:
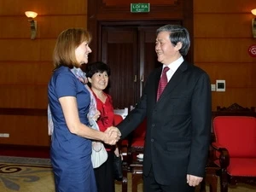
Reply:
[[[87,27],[87,1],[2,0],[0,7],[0,133],[9,133],[0,144],[49,146],[47,84],[55,40],[66,28]],[[38,13],[34,40],[27,10]]]

